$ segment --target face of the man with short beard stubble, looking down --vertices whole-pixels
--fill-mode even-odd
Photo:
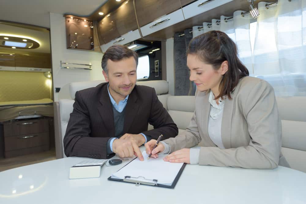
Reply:
[[[125,98],[135,87],[136,61],[134,57],[124,58],[120,61],[107,60],[108,73],[103,71],[105,80],[109,83],[112,97]]]

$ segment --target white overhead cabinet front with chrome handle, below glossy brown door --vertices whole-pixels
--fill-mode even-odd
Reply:
[[[140,28],[143,36],[149,35],[161,29],[167,28],[184,20],[182,9],[178,9],[164,17],[161,17],[152,23],[149,23]]]

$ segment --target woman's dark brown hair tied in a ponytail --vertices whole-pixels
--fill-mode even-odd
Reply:
[[[222,76],[219,86],[220,94],[215,98],[222,98],[237,86],[239,79],[248,76],[248,69],[242,64],[237,55],[237,46],[224,32],[209,31],[193,38],[187,49],[188,54],[196,54],[204,63],[210,64],[218,70],[224,61],[228,61],[228,71]]]

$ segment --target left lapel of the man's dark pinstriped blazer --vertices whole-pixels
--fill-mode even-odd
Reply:
[[[114,137],[115,135],[115,125],[114,125],[114,113],[112,104],[110,102],[110,96],[107,91],[107,84],[102,87],[102,93],[100,96],[100,104],[97,107],[103,123],[108,130],[109,137]]]

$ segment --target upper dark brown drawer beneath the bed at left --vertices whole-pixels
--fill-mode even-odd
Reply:
[[[49,132],[49,123],[47,118],[10,121],[3,123],[3,125],[4,137]]]

